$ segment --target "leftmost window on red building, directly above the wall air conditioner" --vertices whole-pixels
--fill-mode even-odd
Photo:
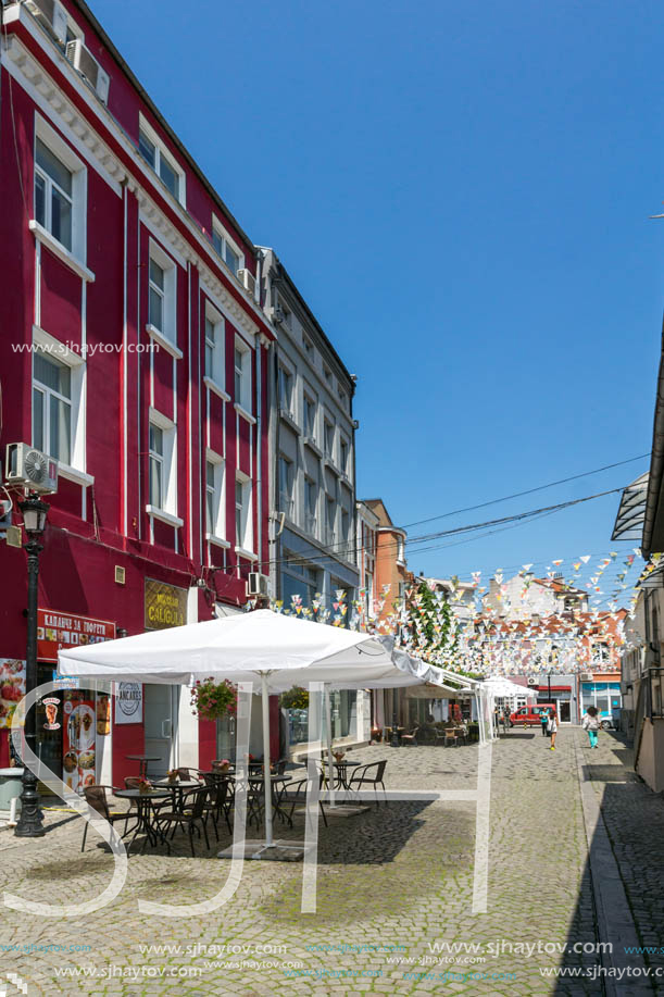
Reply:
[[[72,372],[40,351],[34,360],[33,446],[72,463]]]

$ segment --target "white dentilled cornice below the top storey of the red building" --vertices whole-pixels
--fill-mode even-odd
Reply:
[[[2,62],[8,66],[15,79],[24,89],[35,97],[36,102],[41,107],[45,113],[57,123],[64,134],[74,139],[73,144],[80,150],[85,151],[86,159],[95,169],[104,177],[116,194],[120,194],[123,183],[126,183],[129,190],[136,195],[140,209],[150,220],[151,226],[156,228],[164,240],[171,244],[174,249],[190,261],[200,273],[201,279],[211,288],[217,300],[224,306],[228,317],[240,328],[251,336],[259,333],[260,326],[258,321],[252,317],[253,312],[258,319],[260,315],[265,321],[262,312],[249,292],[239,284],[238,288],[247,299],[247,310],[242,308],[239,301],[230,294],[222,281],[216,277],[203,259],[196,250],[196,245],[201,247],[205,252],[214,252],[212,245],[208,245],[208,239],[187,214],[186,210],[177,202],[173,202],[173,210],[178,215],[179,221],[187,227],[191,241],[188,241],[165,216],[163,211],[158,208],[150,195],[147,192],[143,182],[150,183],[156,188],[156,177],[150,175],[150,167],[145,163],[134,144],[118,126],[117,122],[107,111],[97,98],[89,91],[83,83],[76,71],[66,61],[64,55],[51,46],[45,38],[43,41],[38,37],[39,29],[29,24],[30,15],[20,9],[22,23],[30,32],[30,35],[41,46],[45,58],[51,62],[58,60],[57,67],[63,72],[72,86],[79,91],[82,98],[87,104],[90,114],[95,114],[102,127],[108,128],[114,139],[121,145],[125,153],[133,161],[133,170],[136,175],[125,170],[124,164],[114,152],[102,141],[97,132],[92,128],[89,120],[68,100],[60,89],[58,84],[46,74],[43,65],[25,48],[18,38],[10,35],[7,38],[7,47],[2,54]],[[25,20],[24,20],[25,18]],[[53,49],[53,52],[47,51],[46,46]],[[83,148],[82,148],[83,147]],[[140,176],[140,178],[137,178]]]

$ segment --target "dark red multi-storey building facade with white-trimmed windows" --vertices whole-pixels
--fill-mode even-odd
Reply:
[[[0,452],[59,460],[39,607],[128,634],[211,619],[268,560],[256,253],[87,7],[32,11],[3,10]],[[0,540],[0,661],[21,660],[25,552]],[[186,693],[143,691],[104,735],[98,710],[98,778],[159,733],[170,764],[214,757]]]

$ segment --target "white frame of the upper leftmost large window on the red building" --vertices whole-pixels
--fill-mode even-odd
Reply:
[[[41,223],[38,222],[36,217],[33,217],[29,227],[33,232],[35,232],[36,235],[43,237],[43,241],[47,242],[47,245],[51,242],[58,256],[61,258],[64,256],[65,262],[68,262],[66,258],[71,257],[73,262],[78,263],[84,267],[85,271],[87,271],[86,259],[88,171],[86,164],[82,159],[79,159],[78,155],[76,155],[71,146],[65,142],[62,136],[60,136],[54,128],[47,124],[47,122],[39,114],[35,114],[35,138],[33,144],[33,209],[35,209],[35,175],[37,173],[39,173],[41,176],[45,175],[41,167],[37,165],[38,138],[72,174],[72,246],[71,248],[65,246],[65,244],[61,242],[60,239],[57,239],[50,230],[48,224],[50,211],[48,198],[45,213],[46,225],[41,225]],[[50,178],[49,182],[52,184]],[[33,214],[36,215],[36,213],[37,212],[33,210]],[[93,274],[86,276],[87,279],[90,279],[90,277],[93,279]]]

